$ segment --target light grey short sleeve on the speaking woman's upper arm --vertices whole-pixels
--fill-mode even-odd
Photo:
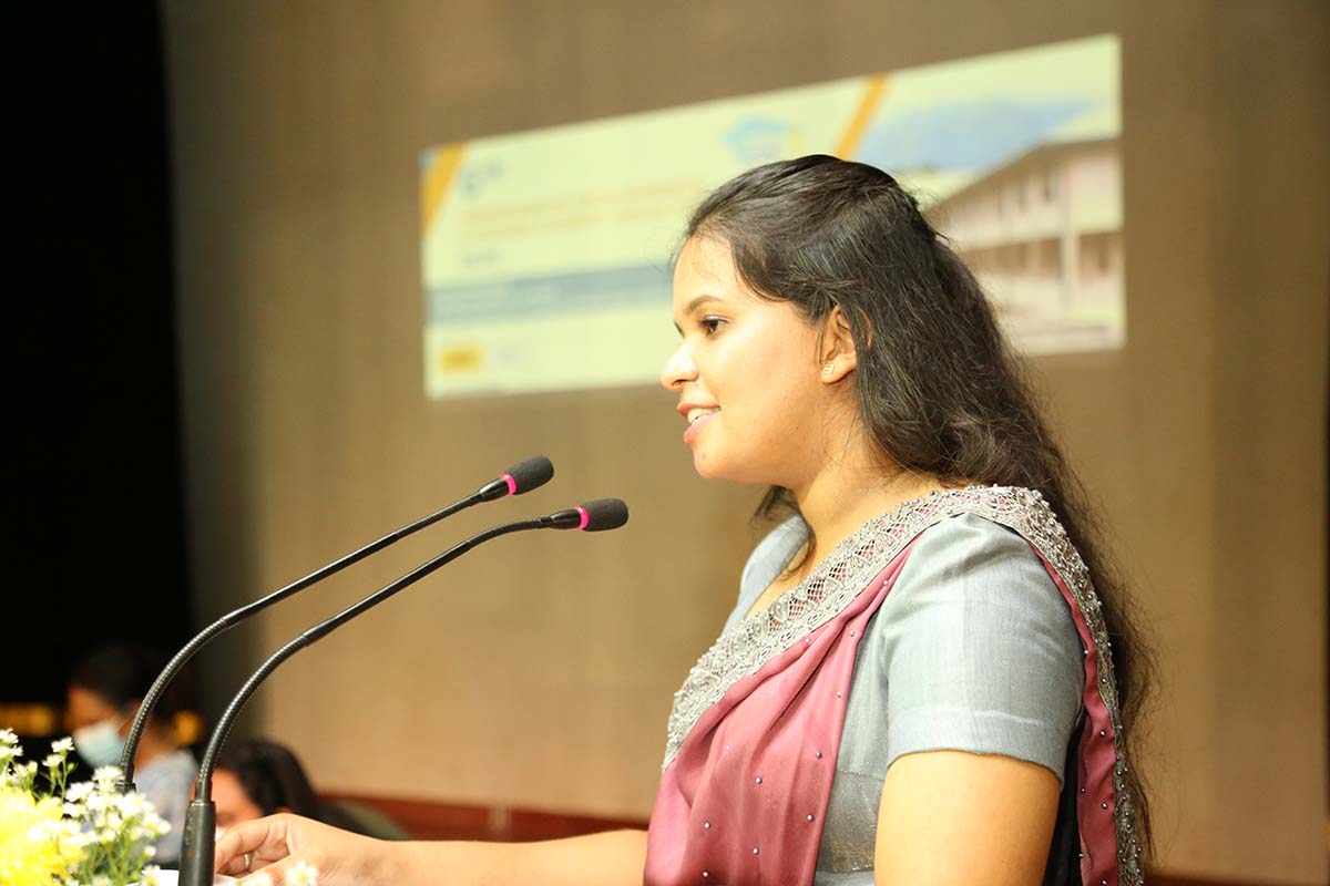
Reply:
[[[1036,762],[1061,781],[1081,709],[1081,644],[1067,600],[1020,535],[974,514],[926,530],[874,631],[887,765],[968,751]]]

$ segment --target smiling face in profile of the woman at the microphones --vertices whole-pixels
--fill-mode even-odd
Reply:
[[[682,341],[661,384],[678,395],[697,473],[801,487],[825,452],[818,329],[743,286],[729,244],[710,238],[680,254],[674,325]]]

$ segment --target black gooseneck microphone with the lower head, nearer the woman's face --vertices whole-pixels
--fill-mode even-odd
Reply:
[[[213,737],[207,741],[207,749],[203,752],[203,760],[198,766],[198,778],[194,781],[194,800],[190,801],[189,810],[185,813],[185,834],[180,854],[180,886],[210,886],[213,882],[213,863],[217,850],[217,808],[213,805],[213,769],[217,766],[217,754],[226,743],[226,737],[230,735],[231,727],[235,724],[235,719],[239,716],[245,703],[254,695],[259,684],[283,662],[305,647],[323,639],[362,612],[374,608],[398,591],[415,584],[440,566],[458,559],[472,547],[483,545],[491,538],[532,529],[579,529],[588,533],[598,533],[618,529],[626,522],[628,505],[618,498],[600,498],[587,502],[580,507],[555,511],[548,517],[493,526],[472,535],[464,542],[459,542],[443,554],[422,563],[402,578],[386,584],[332,618],[319,622],[269,656],[254,671],[250,679],[245,681],[245,685],[235,693],[235,697],[231,699],[222,717],[217,721]]]

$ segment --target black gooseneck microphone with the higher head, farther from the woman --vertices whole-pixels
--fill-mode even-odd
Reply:
[[[205,627],[198,632],[198,635],[194,636],[194,639],[186,643],[184,648],[176,654],[176,658],[173,658],[165,668],[162,668],[162,672],[157,675],[153,685],[144,695],[144,700],[138,705],[138,712],[134,715],[134,723],[129,728],[129,735],[125,737],[125,749],[120,754],[121,777],[117,786],[121,793],[128,793],[134,789],[134,757],[138,753],[138,741],[142,739],[144,728],[148,725],[148,717],[161,700],[162,692],[166,691],[166,685],[176,677],[180,669],[185,667],[185,663],[194,658],[194,654],[203,648],[214,636],[222,634],[223,631],[229,631],[251,615],[266,610],[269,606],[273,606],[279,600],[285,600],[293,594],[303,591],[310,584],[315,584],[322,582],[329,575],[340,573],[347,566],[360,562],[370,554],[375,554],[388,545],[392,545],[394,542],[398,542],[407,535],[424,529],[426,526],[438,523],[444,517],[451,517],[459,510],[466,510],[467,507],[479,505],[480,502],[489,502],[507,495],[520,495],[523,493],[528,493],[532,489],[537,489],[548,484],[553,476],[555,466],[544,456],[536,456],[517,462],[462,501],[454,502],[443,510],[435,511],[428,517],[423,517],[394,533],[388,533],[383,538],[370,542],[359,550],[351,551],[346,557],[310,573],[297,582],[291,582],[286,587],[273,591],[265,598],[247,603],[233,612],[227,612]]]

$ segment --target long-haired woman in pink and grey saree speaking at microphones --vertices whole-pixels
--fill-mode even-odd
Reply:
[[[661,383],[709,480],[785,518],[674,696],[649,830],[354,837],[274,816],[217,869],[321,883],[1141,883],[1141,685],[1088,506],[979,284],[886,173],[750,170],[689,221]]]

